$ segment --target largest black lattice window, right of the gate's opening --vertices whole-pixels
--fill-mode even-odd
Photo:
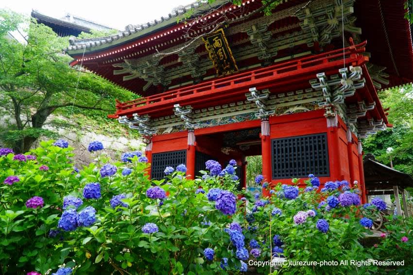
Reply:
[[[329,176],[327,134],[271,140],[273,178]]]

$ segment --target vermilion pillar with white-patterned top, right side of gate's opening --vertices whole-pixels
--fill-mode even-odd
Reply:
[[[262,157],[262,176],[264,182],[271,183],[271,138],[270,121],[268,116],[261,117],[261,157]],[[262,190],[264,196],[269,196],[267,189]]]

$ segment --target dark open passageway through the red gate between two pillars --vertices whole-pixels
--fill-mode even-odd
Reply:
[[[261,155],[260,131],[260,128],[250,128],[197,135],[195,172],[204,170],[207,160],[216,160],[224,168],[233,159],[237,161],[236,174],[240,179],[240,189],[246,187],[246,158]]]

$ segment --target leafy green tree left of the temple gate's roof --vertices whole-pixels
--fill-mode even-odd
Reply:
[[[69,67],[62,53],[67,38],[14,12],[0,10],[0,116],[11,116],[0,139],[16,152],[26,152],[40,136],[53,136],[44,129],[48,117],[59,108],[114,111],[114,98],[137,96],[91,73]],[[28,26],[19,30],[20,26]],[[25,43],[7,37],[8,32],[27,33]],[[79,108],[79,109],[74,109]]]

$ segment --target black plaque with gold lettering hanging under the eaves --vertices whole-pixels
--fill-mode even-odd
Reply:
[[[232,56],[231,49],[229,49],[223,29],[219,29],[217,32],[202,39],[209,53],[209,58],[212,60],[219,76],[238,71],[237,64],[235,63],[234,56]]]

